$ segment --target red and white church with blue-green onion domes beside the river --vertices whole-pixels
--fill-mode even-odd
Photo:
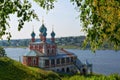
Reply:
[[[44,24],[41,25],[39,32],[40,42],[35,41],[34,31],[31,33],[29,52],[23,56],[23,64],[56,72],[77,71],[75,66],[75,62],[78,60],[77,56],[65,49],[57,48],[55,32],[53,30],[51,32],[51,41],[46,39],[47,28]]]

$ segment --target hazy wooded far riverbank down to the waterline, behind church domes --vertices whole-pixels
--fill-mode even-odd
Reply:
[[[74,46],[75,48],[82,48],[85,36],[71,36],[71,37],[60,37],[56,38],[55,42],[58,46]],[[50,38],[47,38],[47,41],[50,42]],[[0,46],[3,47],[28,47],[31,39],[16,39],[16,40],[1,40]],[[40,39],[36,39],[36,42],[40,42]],[[112,46],[112,45],[111,45]],[[102,49],[111,49],[112,47],[106,43],[101,46]],[[84,49],[90,49],[90,45],[88,44]]]

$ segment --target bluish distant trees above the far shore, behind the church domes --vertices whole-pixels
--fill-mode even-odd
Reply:
[[[56,38],[55,42],[57,45],[82,45],[85,36],[71,36],[71,37],[60,37]],[[50,38],[47,38],[47,41],[50,42]],[[14,40],[1,40],[0,46],[3,47],[27,47],[30,43],[31,39],[14,39]],[[36,42],[39,42],[40,39],[36,39]]]

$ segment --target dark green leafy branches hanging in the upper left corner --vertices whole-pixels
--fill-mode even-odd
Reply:
[[[31,9],[31,4],[24,0],[0,0],[0,39],[3,35],[7,35],[8,40],[11,38],[9,32],[10,14],[17,14],[18,31],[21,30],[26,21],[31,21],[33,18],[38,20],[34,10]]]

